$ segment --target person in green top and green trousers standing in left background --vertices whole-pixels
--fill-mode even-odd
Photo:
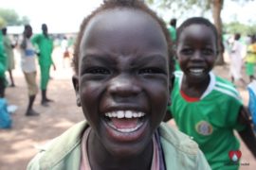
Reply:
[[[32,38],[32,42],[39,47],[39,66],[41,71],[41,83],[40,88],[42,91],[42,101],[43,106],[48,106],[48,102],[53,100],[46,97],[47,84],[49,81],[50,66],[53,64],[54,70],[55,65],[51,59],[51,54],[53,51],[53,41],[48,35],[48,28],[46,24],[42,25],[42,34],[36,35]]]

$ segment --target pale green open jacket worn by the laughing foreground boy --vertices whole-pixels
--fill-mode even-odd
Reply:
[[[43,148],[27,170],[79,170],[81,163],[82,133],[89,127],[81,122],[69,128]],[[208,170],[210,166],[198,145],[187,135],[162,123],[159,127],[160,142],[167,170]]]

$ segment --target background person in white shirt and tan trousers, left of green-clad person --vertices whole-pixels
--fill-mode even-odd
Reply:
[[[36,84],[36,55],[35,48],[30,42],[32,36],[32,27],[29,25],[25,26],[23,33],[23,40],[21,42],[21,68],[24,73],[27,89],[28,89],[28,105],[27,105],[27,116],[39,115],[38,112],[32,109],[36,94],[38,93],[38,87]]]

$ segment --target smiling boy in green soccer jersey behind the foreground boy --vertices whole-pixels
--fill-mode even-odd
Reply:
[[[192,136],[212,169],[238,169],[236,129],[256,156],[256,140],[237,90],[211,70],[218,56],[217,30],[207,19],[190,18],[177,29],[175,72],[169,111],[179,129]],[[231,155],[231,159],[229,158]],[[235,159],[236,158],[236,159]]]

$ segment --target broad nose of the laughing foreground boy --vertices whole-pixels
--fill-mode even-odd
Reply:
[[[117,76],[109,85],[109,93],[119,97],[135,96],[140,92],[135,78],[130,76]]]

